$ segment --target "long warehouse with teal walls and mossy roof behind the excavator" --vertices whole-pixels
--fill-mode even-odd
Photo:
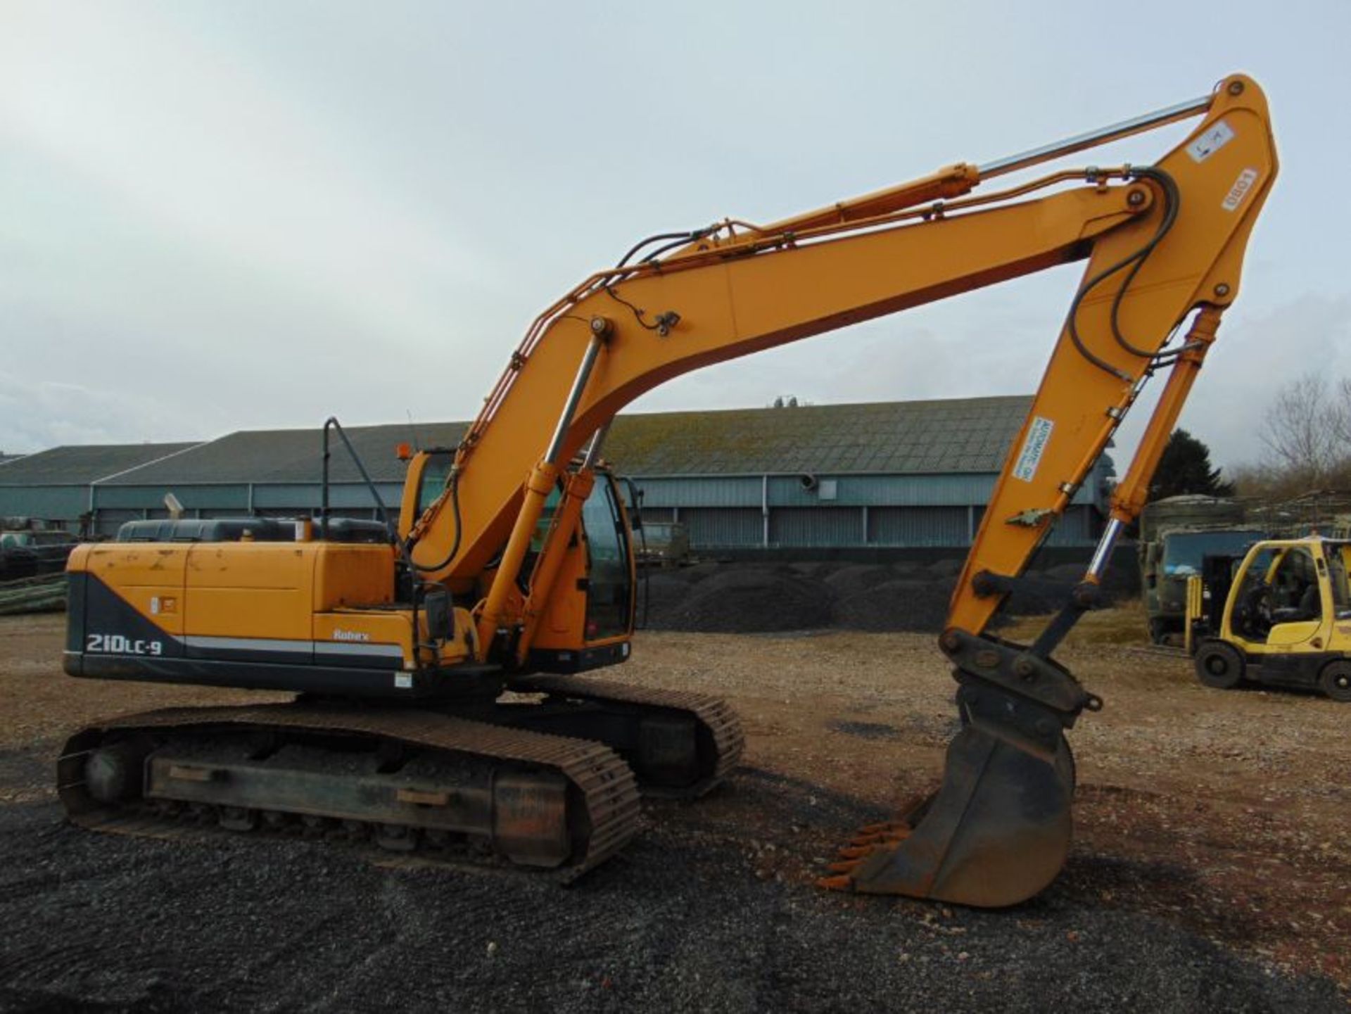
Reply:
[[[605,456],[642,491],[643,518],[680,521],[696,551],[970,545],[1029,396],[793,405],[619,416]],[[465,423],[347,431],[397,510],[400,443],[454,447]],[[335,442],[330,513],[373,518],[370,490]],[[126,521],[311,516],[323,502],[319,429],[240,431],[203,443],[57,447],[0,463],[0,514],[115,536]],[[1051,545],[1090,547],[1112,463],[1077,491]]]

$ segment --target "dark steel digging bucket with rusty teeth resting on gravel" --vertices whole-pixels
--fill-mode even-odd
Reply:
[[[863,828],[821,886],[982,909],[1017,905],[1055,879],[1073,833],[1074,760],[967,724],[943,784],[900,820]]]

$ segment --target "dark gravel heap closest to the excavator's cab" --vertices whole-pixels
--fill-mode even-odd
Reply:
[[[831,593],[792,567],[724,570],[692,586],[661,618],[667,631],[767,633],[828,626]],[[653,626],[657,626],[653,622]]]

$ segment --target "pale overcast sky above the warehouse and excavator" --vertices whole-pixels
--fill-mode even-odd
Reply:
[[[1351,375],[1348,38],[1351,0],[0,0],[0,450],[466,419],[534,315],[636,238],[990,161],[1244,70],[1282,176],[1182,424],[1254,460],[1273,385]],[[1092,161],[1152,161],[1181,130]],[[634,408],[1027,393],[1079,270]]]

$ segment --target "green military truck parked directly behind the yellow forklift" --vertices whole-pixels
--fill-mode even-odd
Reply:
[[[1140,514],[1140,587],[1150,640],[1181,644],[1186,622],[1186,581],[1210,555],[1243,556],[1270,533],[1248,524],[1244,505],[1228,497],[1181,496],[1156,500]]]

